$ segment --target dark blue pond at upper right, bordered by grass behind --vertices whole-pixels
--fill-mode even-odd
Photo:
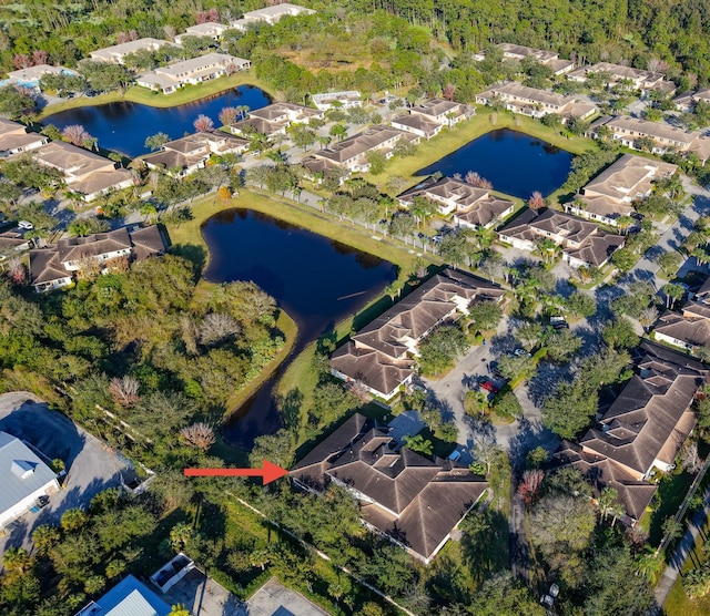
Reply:
[[[440,172],[452,176],[475,171],[496,191],[527,199],[534,191],[542,196],[559,188],[570,171],[572,155],[525,133],[498,129],[459,147],[417,175]]]

